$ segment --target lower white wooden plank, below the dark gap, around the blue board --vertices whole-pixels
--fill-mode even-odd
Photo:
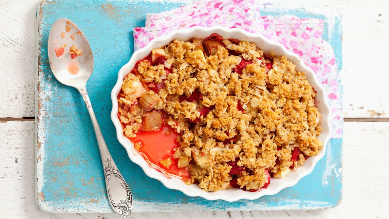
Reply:
[[[119,219],[116,214],[53,214],[34,201],[34,122],[0,123],[0,218]],[[357,137],[356,137],[357,136]],[[338,207],[324,210],[134,213],[133,218],[387,218],[389,200],[389,122],[345,122],[343,143],[343,198]],[[369,165],[369,168],[361,168]],[[367,170],[368,169],[368,170]]]

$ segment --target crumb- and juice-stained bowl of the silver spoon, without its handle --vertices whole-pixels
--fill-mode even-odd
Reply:
[[[68,32],[67,26],[70,27]],[[84,87],[93,72],[94,60],[89,42],[80,28],[69,19],[60,18],[51,27],[47,44],[50,66],[55,78],[64,85],[77,89]],[[69,52],[73,45],[82,52],[82,55],[71,58]],[[56,49],[61,46],[64,48],[63,54],[57,57]],[[69,71],[69,68],[74,70],[77,67],[79,68],[77,74]]]

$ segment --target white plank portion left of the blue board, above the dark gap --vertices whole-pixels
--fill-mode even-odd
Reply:
[[[34,116],[38,2],[0,3],[0,117]]]

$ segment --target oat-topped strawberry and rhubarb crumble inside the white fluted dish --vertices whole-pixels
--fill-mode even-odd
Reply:
[[[260,191],[319,153],[315,90],[286,57],[212,34],[153,49],[124,78],[123,133],[204,191]]]

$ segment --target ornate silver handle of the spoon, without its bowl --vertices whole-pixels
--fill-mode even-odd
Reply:
[[[129,217],[133,208],[131,191],[120,171],[117,169],[107,145],[105,144],[103,134],[96,120],[95,113],[93,112],[86,88],[80,88],[79,92],[85,101],[86,108],[88,108],[89,115],[91,116],[93,128],[95,129],[101,160],[104,167],[105,185],[107,187],[109,204],[115,212],[121,214],[123,217]]]

